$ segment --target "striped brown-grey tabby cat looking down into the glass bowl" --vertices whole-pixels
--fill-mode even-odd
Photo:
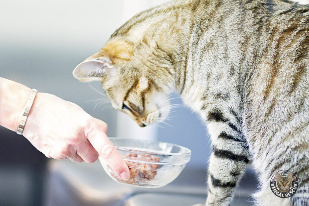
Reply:
[[[248,164],[254,204],[309,204],[308,5],[174,0],[135,15],[73,75],[100,81],[141,127],[166,118],[162,99],[179,92],[212,141],[205,205],[230,204]],[[278,170],[297,175],[290,198],[269,187]]]

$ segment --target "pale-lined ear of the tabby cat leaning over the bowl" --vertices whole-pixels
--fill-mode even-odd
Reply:
[[[88,58],[73,70],[73,76],[81,82],[100,81],[102,77],[113,74],[116,68],[105,57]]]

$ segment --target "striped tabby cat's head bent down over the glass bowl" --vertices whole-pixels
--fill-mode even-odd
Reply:
[[[159,48],[141,41],[129,43],[111,39],[96,54],[73,71],[82,82],[100,81],[112,107],[128,114],[144,127],[163,120],[168,101],[162,101],[174,89],[170,57]]]

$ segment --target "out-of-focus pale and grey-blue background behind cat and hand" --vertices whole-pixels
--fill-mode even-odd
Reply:
[[[109,137],[159,140],[192,150],[191,161],[175,183],[160,190],[138,190],[113,182],[98,161],[48,159],[24,137],[0,126],[0,205],[144,206],[158,199],[165,203],[154,205],[205,201],[210,143],[196,114],[184,106],[170,114],[171,120],[166,121],[170,126],[139,128],[109,103],[100,103],[103,91],[99,82],[81,83],[72,76],[74,67],[99,51],[121,24],[164,2],[167,0],[0,0],[1,77],[77,103],[108,124]],[[171,103],[181,103],[177,97],[172,94],[176,99]],[[250,173],[247,177],[253,186],[244,183],[234,205],[250,205],[248,194],[256,182]],[[171,199],[182,204],[168,203]],[[196,202],[186,202],[191,199]],[[149,201],[144,204],[144,200]]]

